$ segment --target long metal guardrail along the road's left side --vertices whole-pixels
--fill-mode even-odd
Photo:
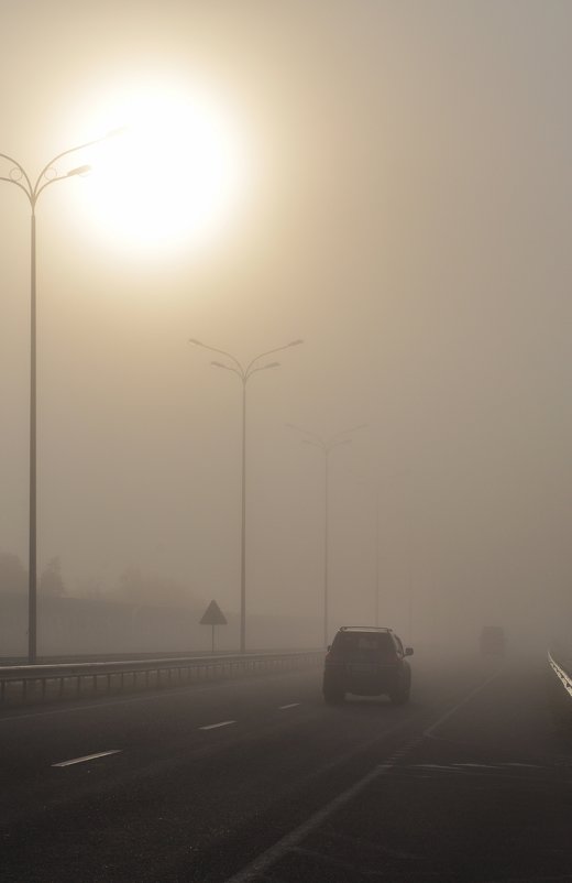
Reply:
[[[256,672],[318,664],[323,651],[256,653],[240,656],[178,656],[125,662],[10,665],[0,667],[0,705],[161,689]]]

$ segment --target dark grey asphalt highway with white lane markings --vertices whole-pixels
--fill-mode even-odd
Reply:
[[[0,880],[572,881],[546,659],[411,667],[398,708],[311,669],[2,712]]]

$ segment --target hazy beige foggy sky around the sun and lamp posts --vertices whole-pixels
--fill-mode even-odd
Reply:
[[[389,624],[407,631],[411,587],[419,629],[560,611],[572,4],[0,0],[0,151],[31,172],[154,81],[212,96],[248,166],[202,246],[112,239],[81,178],[42,198],[41,560],[58,555],[72,591],[140,567],[235,609],[240,383],[187,339],[248,360],[301,337],[249,386],[251,609],[320,613],[322,461],[290,422],[367,424],[331,455],[332,625],[372,617],[376,481]],[[2,182],[0,233],[0,550],[25,560],[29,211]]]

